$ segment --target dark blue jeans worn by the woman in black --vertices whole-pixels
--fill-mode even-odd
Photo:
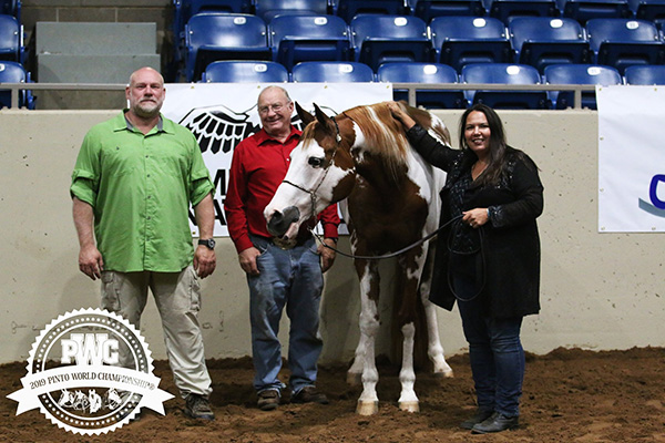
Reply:
[[[454,289],[464,299],[475,292],[472,284],[460,278],[454,279]],[[519,415],[524,380],[524,349],[520,341],[522,317],[490,318],[484,313],[482,297],[458,300],[458,307],[469,342],[478,408],[507,416]]]

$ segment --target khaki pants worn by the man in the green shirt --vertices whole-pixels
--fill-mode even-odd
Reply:
[[[140,329],[149,288],[162,318],[168,364],[181,395],[209,395],[212,382],[198,323],[201,287],[193,266],[181,272],[103,271],[102,308],[121,315]],[[130,358],[121,348],[121,364],[132,367]]]

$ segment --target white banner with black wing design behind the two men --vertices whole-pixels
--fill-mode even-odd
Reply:
[[[233,148],[260,128],[256,110],[258,93],[267,84],[256,83],[172,83],[166,84],[162,113],[190,128],[203,152],[203,159],[215,183],[215,237],[228,236],[224,198]],[[316,103],[328,115],[354,106],[392,100],[390,83],[279,83],[291,100],[314,112]],[[301,128],[294,113],[293,123]],[[194,220],[193,214],[190,220]],[[191,223],[192,233],[197,236]]]

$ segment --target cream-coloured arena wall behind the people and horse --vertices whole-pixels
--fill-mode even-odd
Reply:
[[[70,174],[85,132],[117,111],[0,111],[0,363],[24,360],[40,330],[66,311],[99,306],[99,281],[76,266]],[[457,137],[460,111],[439,116]],[[593,111],[501,111],[509,142],[541,168],[545,210],[542,311],[528,317],[523,344],[533,353],[665,346],[665,236],[597,231],[597,114]],[[453,138],[456,140],[456,138]],[[630,150],[630,146],[626,146]],[[201,322],[207,358],[250,354],[248,293],[228,238],[218,238],[217,270],[203,286]],[[348,250],[342,239],[340,248]],[[389,290],[392,266],[382,266]],[[321,306],[323,362],[348,361],[358,339],[358,284],[338,256]],[[387,353],[389,303],[383,303]],[[283,321],[286,337],[287,320]],[[457,311],[439,311],[447,354],[466,352]],[[141,327],[164,359],[154,302]],[[286,341],[286,340],[284,340]]]

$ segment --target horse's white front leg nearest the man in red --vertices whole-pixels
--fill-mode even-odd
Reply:
[[[357,370],[361,364],[362,393],[358,399],[356,412],[360,415],[372,415],[379,412],[376,389],[379,372],[375,361],[375,342],[379,331],[379,275],[375,261],[356,260],[356,270],[360,279],[360,342],[347,379],[355,367]]]

